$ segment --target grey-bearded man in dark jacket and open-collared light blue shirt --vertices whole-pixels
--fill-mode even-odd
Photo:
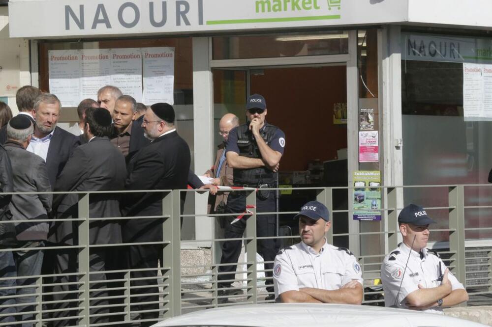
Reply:
[[[79,144],[77,136],[57,127],[62,104],[54,94],[41,94],[34,102],[36,124],[27,150],[46,162],[53,188],[73,148]]]

